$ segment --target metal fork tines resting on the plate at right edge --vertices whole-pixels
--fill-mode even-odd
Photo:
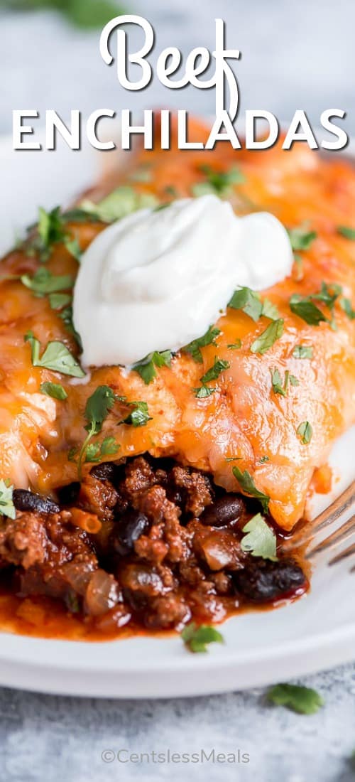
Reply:
[[[304,547],[307,560],[314,561],[314,558],[326,554],[330,557],[328,565],[335,565],[355,554],[355,515],[353,514],[349,518],[349,513],[354,505],[355,481],[350,483],[350,486],[328,508],[325,508],[325,511],[322,511],[309,523],[307,530],[302,529],[298,536],[293,536],[292,539],[286,541],[283,551],[290,551],[295,546],[297,548]],[[318,543],[320,533],[325,530],[328,534]],[[352,542],[346,549],[335,554],[336,549],[346,540],[352,540]],[[355,571],[355,565],[351,569],[351,572],[353,571]]]

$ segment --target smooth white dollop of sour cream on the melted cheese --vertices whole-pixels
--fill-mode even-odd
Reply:
[[[83,364],[130,365],[178,350],[218,320],[237,287],[269,288],[292,264],[276,217],[237,217],[216,195],[130,214],[83,253],[73,300]]]

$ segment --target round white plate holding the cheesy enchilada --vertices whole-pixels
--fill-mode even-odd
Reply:
[[[55,155],[12,152],[11,139],[5,138],[0,165],[1,254],[11,245],[14,228],[35,219],[37,204],[49,208],[69,202],[90,185],[98,160],[90,149],[71,152],[64,145]],[[332,465],[342,475],[337,492],[355,477],[349,458],[354,451],[355,428],[332,453]],[[314,513],[330,500],[317,497]],[[96,644],[1,633],[0,684],[58,694],[158,698],[288,680],[355,659],[354,587],[346,561],[332,569],[320,562],[310,594],[276,611],[229,619],[222,626],[225,644],[215,644],[208,655],[190,655],[179,637]]]

